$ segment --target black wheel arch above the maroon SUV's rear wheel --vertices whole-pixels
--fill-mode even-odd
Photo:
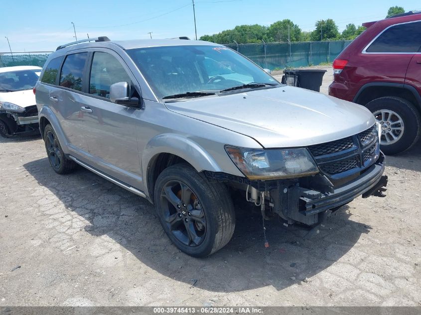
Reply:
[[[411,85],[388,82],[371,82],[365,84],[355,95],[353,102],[366,105],[375,99],[394,96],[407,100],[416,106],[421,114],[421,96]]]

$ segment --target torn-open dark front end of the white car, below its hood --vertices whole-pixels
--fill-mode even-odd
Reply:
[[[11,138],[39,133],[38,110],[36,105],[20,107],[8,104],[10,103],[4,103],[0,106],[1,136]]]

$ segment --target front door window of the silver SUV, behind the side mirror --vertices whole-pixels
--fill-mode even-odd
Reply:
[[[92,60],[89,93],[103,98],[110,98],[110,86],[117,82],[131,80],[121,63],[112,55],[96,52]]]

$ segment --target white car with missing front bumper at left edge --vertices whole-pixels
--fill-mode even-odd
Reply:
[[[0,68],[0,135],[38,133],[38,111],[32,91],[42,68]]]

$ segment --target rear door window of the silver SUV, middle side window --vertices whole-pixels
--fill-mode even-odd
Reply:
[[[61,68],[60,86],[82,91],[82,73],[88,53],[68,55]]]

